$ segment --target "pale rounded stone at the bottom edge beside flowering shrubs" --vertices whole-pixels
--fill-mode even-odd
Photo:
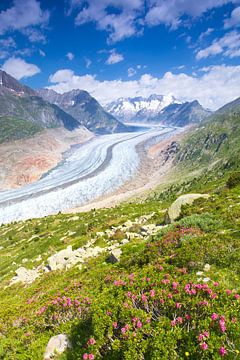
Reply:
[[[46,347],[44,360],[53,359],[55,355],[62,354],[67,348],[71,348],[71,343],[66,334],[59,334],[51,337]]]

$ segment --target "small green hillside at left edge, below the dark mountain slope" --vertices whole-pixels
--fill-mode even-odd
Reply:
[[[22,120],[14,117],[0,117],[0,144],[30,138],[43,128],[31,121]]]

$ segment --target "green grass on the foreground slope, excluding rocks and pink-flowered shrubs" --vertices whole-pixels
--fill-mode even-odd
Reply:
[[[93,238],[96,232],[104,231],[111,226],[118,226],[126,220],[134,220],[136,217],[150,214],[153,211],[155,215],[150,222],[163,223],[163,210],[173,199],[180,193],[185,193],[186,189],[188,192],[195,191],[196,181],[194,179],[182,184],[175,184],[175,187],[172,186],[168,191],[155,193],[142,203],[125,203],[112,209],[96,210],[77,215],[59,214],[44,219],[2,226],[0,228],[1,246],[3,247],[0,250],[2,259],[0,264],[0,275],[2,277],[0,317],[3,322],[0,326],[0,358],[41,359],[49,338],[54,334],[65,332],[70,334],[74,349],[72,352],[63,355],[63,359],[82,358],[83,351],[86,350],[87,339],[93,335],[95,338],[99,337],[99,346],[93,349],[96,359],[130,359],[130,355],[126,354],[131,353],[131,351],[125,349],[126,344],[122,343],[121,338],[119,338],[119,342],[116,342],[115,350],[112,349],[109,352],[100,350],[107,346],[104,345],[103,333],[110,330],[105,327],[102,329],[101,323],[106,322],[106,319],[103,315],[96,319],[96,311],[101,313],[110,306],[110,304],[107,305],[107,298],[111,297],[115,291],[112,285],[108,285],[104,279],[109,275],[111,279],[118,279],[122,276],[128,276],[127,274],[132,272],[140,276],[141,272],[149,272],[150,270],[147,269],[155,266],[154,264],[159,256],[162,259],[161,265],[169,269],[171,273],[179,268],[186,268],[188,279],[194,281],[196,281],[196,272],[201,270],[204,264],[210,263],[211,271],[208,276],[214,281],[220,282],[221,287],[237,291],[240,275],[238,261],[240,258],[240,188],[238,184],[228,188],[226,186],[228,177],[228,173],[224,174],[217,183],[216,181],[206,181],[206,177],[203,175],[198,179],[198,186],[201,191],[207,190],[211,197],[209,200],[199,200],[194,205],[183,208],[182,218],[176,225],[184,228],[196,228],[200,232],[197,235],[186,234],[181,247],[176,248],[173,259],[169,257],[172,252],[171,246],[161,254],[158,252],[148,254],[146,243],[140,239],[135,239],[122,248],[123,255],[119,264],[106,264],[106,255],[102,254],[95,259],[90,259],[82,270],[75,267],[68,271],[50,272],[29,286],[16,284],[6,288],[9,279],[14,275],[14,270],[22,265],[23,259],[27,259],[24,266],[32,268],[41,261],[46,262],[50,254],[66,248],[69,244],[73,248],[77,248]],[[136,226],[133,229],[139,231]],[[157,244],[166,236],[171,238],[174,229],[175,227],[170,225],[162,233],[160,232],[152,237],[151,242]],[[121,240],[122,234],[117,233],[116,238]],[[99,245],[104,246],[104,242],[99,240]],[[42,260],[36,262],[35,259],[39,254],[42,255]],[[155,270],[152,269],[151,271],[154,272]],[[55,323],[52,321],[55,310],[51,307],[43,316],[37,316],[37,311],[42,306],[50,304],[51,300],[58,294],[71,299],[80,298],[80,300],[89,297],[92,303],[89,306],[85,303],[82,304],[82,308],[86,311],[83,317],[75,313],[71,314],[71,311],[66,314],[59,309],[58,316],[61,320]],[[119,311],[117,310],[118,306],[122,302],[122,296],[123,293],[120,291],[118,297],[114,297],[114,304],[111,304],[117,313]],[[116,316],[120,316],[117,313]],[[143,316],[143,313],[141,314]],[[124,317],[126,314],[121,316]],[[90,323],[91,326],[89,327],[87,323]],[[152,328],[152,331],[153,329],[155,327]],[[166,330],[167,333],[168,330]],[[216,340],[217,344],[218,340]],[[171,336],[169,341],[173,341]],[[192,340],[192,342],[194,341]],[[151,346],[152,348],[161,347],[163,343],[160,345],[152,344]],[[173,350],[174,346],[172,345],[172,358],[184,358],[186,344],[181,345],[184,351],[182,350],[180,357],[177,357],[175,350]],[[143,352],[147,356],[147,350],[142,349],[140,345],[134,351]],[[199,355],[198,350],[192,349],[191,351],[195,354],[194,356],[201,358],[202,355]],[[102,355],[100,355],[101,353]],[[132,359],[138,359],[134,354],[133,352],[131,355]],[[154,359],[155,355],[151,356],[150,358]],[[229,355],[228,358],[235,359]]]

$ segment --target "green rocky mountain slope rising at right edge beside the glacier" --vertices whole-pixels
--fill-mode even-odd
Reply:
[[[183,166],[235,164],[240,151],[240,99],[226,104],[185,137],[177,161]]]

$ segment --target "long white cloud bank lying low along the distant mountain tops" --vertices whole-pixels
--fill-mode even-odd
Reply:
[[[99,81],[95,76],[79,76],[65,69],[53,74],[50,81],[56,83],[50,88],[60,93],[84,89],[102,104],[120,97],[172,93],[180,100],[198,99],[203,106],[217,109],[240,96],[240,66],[212,66],[199,77],[166,72],[160,78],[144,74],[138,80],[128,81]]]

